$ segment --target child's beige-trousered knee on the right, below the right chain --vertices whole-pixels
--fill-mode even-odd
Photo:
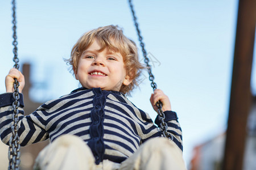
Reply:
[[[121,164],[124,169],[186,169],[180,148],[167,138],[152,138]]]

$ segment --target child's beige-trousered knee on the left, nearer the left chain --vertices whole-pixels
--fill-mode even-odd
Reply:
[[[92,169],[94,157],[90,148],[80,137],[61,135],[46,146],[36,158],[35,167],[41,169]]]

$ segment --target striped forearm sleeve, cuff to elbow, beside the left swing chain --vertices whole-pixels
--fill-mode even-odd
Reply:
[[[19,114],[18,114],[18,135],[20,146],[30,145],[46,140],[49,135],[42,121],[39,121],[39,114],[32,113],[29,116],[24,116],[23,95],[20,95]],[[11,126],[13,125],[13,94],[5,93],[0,95],[0,137],[3,143],[8,145],[12,135]]]

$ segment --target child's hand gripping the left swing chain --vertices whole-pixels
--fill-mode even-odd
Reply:
[[[5,88],[6,92],[14,92],[13,83],[14,78],[19,82],[19,92],[21,93],[25,86],[25,79],[23,74],[18,69],[11,69],[9,74],[5,77]]]

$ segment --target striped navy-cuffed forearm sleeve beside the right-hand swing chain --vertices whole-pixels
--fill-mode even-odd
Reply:
[[[177,121],[177,114],[176,112],[172,111],[165,111],[164,115],[166,116],[164,118],[164,122],[167,123],[167,131],[168,133],[172,134],[174,137],[174,142],[177,146],[179,146],[180,150],[183,151],[183,142],[182,142],[182,131],[180,128],[180,124]],[[161,121],[159,120],[159,115],[155,119],[155,124],[160,126]]]

